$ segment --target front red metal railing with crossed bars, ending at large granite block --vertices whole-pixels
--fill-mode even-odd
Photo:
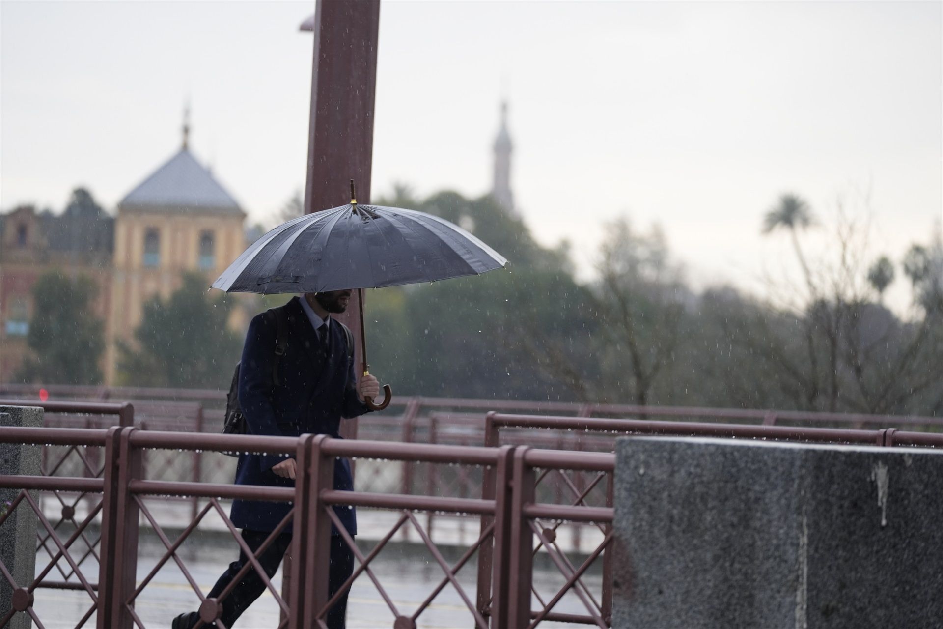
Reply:
[[[223,435],[194,435],[181,433],[166,433],[157,431],[141,431],[133,427],[112,427],[108,431],[95,429],[69,428],[8,428],[0,433],[0,440],[13,443],[50,443],[68,447],[104,447],[106,465],[103,478],[68,478],[46,476],[0,476],[0,487],[19,488],[20,494],[14,501],[10,511],[16,508],[30,508],[36,512],[41,525],[56,542],[57,552],[52,553],[51,561],[40,571],[32,583],[13,584],[15,588],[13,609],[0,619],[0,626],[8,623],[16,612],[29,614],[38,625],[41,619],[33,608],[34,592],[40,587],[42,579],[51,571],[59,559],[64,559],[72,567],[77,584],[74,588],[84,590],[90,599],[90,606],[78,621],[82,626],[97,612],[99,627],[109,626],[139,626],[145,623],[136,612],[135,602],[141,597],[151,584],[154,575],[167,562],[173,560],[180,568],[185,580],[193,588],[194,593],[201,601],[200,613],[206,622],[218,621],[220,612],[219,601],[207,599],[205,594],[196,586],[196,581],[187,568],[186,561],[178,553],[180,545],[200,525],[202,519],[210,511],[214,511],[224,522],[233,538],[239,542],[240,538],[232,522],[228,520],[223,507],[222,498],[264,499],[266,501],[292,502],[290,516],[282,522],[281,528],[289,521],[295,529],[296,535],[292,538],[291,554],[295,560],[291,564],[290,588],[288,601],[266,579],[264,572],[260,572],[267,588],[272,592],[275,601],[285,611],[286,619],[283,626],[324,626],[326,611],[333,604],[327,597],[327,569],[328,544],[330,541],[331,524],[339,524],[334,513],[333,505],[356,505],[361,507],[392,509],[401,513],[398,521],[372,549],[369,555],[363,555],[356,547],[354,540],[345,535],[342,526],[339,526],[342,537],[351,547],[358,561],[359,567],[345,584],[349,588],[357,579],[366,575],[377,587],[384,602],[395,619],[397,627],[415,627],[417,619],[422,615],[439,592],[452,586],[464,602],[472,616],[474,624],[487,627],[485,614],[474,603],[477,599],[489,601],[486,609],[490,618],[490,626],[511,626],[508,614],[514,609],[514,601],[521,601],[530,596],[530,581],[522,580],[527,575],[528,559],[522,553],[515,554],[516,540],[526,538],[526,527],[536,518],[567,518],[578,521],[600,520],[611,521],[611,509],[587,509],[568,505],[529,505],[521,503],[521,498],[515,498],[513,491],[502,490],[497,498],[447,498],[426,495],[404,494],[376,494],[363,491],[336,491],[333,489],[334,466],[336,456],[383,458],[390,461],[406,459],[429,462],[451,463],[454,465],[483,465],[488,466],[494,473],[494,478],[502,488],[512,487],[512,475],[516,470],[523,470],[521,463],[512,466],[514,448],[483,448],[462,446],[435,446],[421,444],[400,444],[371,441],[345,441],[330,439],[325,436],[306,435],[301,438],[265,438],[246,436]],[[144,453],[153,449],[182,449],[182,450],[218,450],[218,451],[253,451],[262,453],[293,453],[298,460],[299,475],[294,489],[290,488],[261,488],[223,484],[191,483],[183,481],[155,481],[143,476],[142,459]],[[546,456],[565,453],[550,452]],[[534,459],[534,464],[546,465],[546,458]],[[607,459],[606,465],[611,469],[612,455],[583,454],[576,458],[566,459],[565,465],[596,466],[600,456]],[[529,462],[525,462],[530,465]],[[526,466],[525,466],[526,467]],[[45,520],[41,509],[32,494],[37,491],[82,491],[101,492],[103,500],[79,524],[76,533],[68,539],[58,537],[55,528]],[[154,513],[142,500],[144,496],[174,495],[174,496],[202,496],[209,499],[197,517],[183,531],[179,538],[171,541],[164,534],[160,522]],[[517,501],[517,502],[516,502]],[[428,532],[416,518],[416,511],[438,511],[446,513],[467,513],[487,516],[490,521],[482,529],[479,541],[468,548],[453,564],[449,564],[438,551]],[[136,583],[138,569],[138,541],[140,532],[140,516],[150,522],[157,537],[162,542],[166,552],[157,561],[157,564],[141,583]],[[90,522],[100,516],[102,525],[101,555],[99,561],[98,584],[91,583],[91,575],[83,573],[82,567],[74,561],[70,549],[80,531],[89,526]],[[0,519],[0,526],[8,515]],[[515,519],[519,521],[515,523]],[[431,588],[426,599],[417,609],[407,614],[397,608],[387,593],[377,575],[371,570],[371,562],[382,552],[389,539],[402,527],[411,526],[416,530],[422,543],[433,555],[443,572],[442,579],[436,587]],[[515,528],[516,527],[516,528]],[[543,529],[541,529],[542,531]],[[273,532],[273,536],[279,531]],[[272,538],[270,538],[271,541]],[[462,588],[456,579],[456,573],[468,564],[475,553],[480,552],[484,543],[491,540],[491,559],[493,569],[494,588],[489,592],[478,592],[477,597]],[[552,542],[551,542],[552,543]],[[265,548],[263,545],[259,552]],[[550,547],[548,547],[550,548]],[[243,548],[243,551],[248,549]],[[532,553],[528,546],[526,555]],[[518,556],[517,563],[511,563],[511,557]],[[250,565],[256,565],[253,559]],[[567,564],[561,563],[561,566]],[[248,571],[249,568],[246,568]],[[258,566],[256,565],[256,571]],[[519,575],[519,571],[521,575]],[[6,567],[4,576],[12,582]],[[572,573],[569,575],[572,577]],[[579,577],[579,574],[576,574]],[[240,577],[236,579],[239,580]],[[575,582],[575,580],[573,580]],[[526,593],[518,590],[526,588]],[[493,595],[489,595],[493,592]],[[223,592],[221,598],[228,592]],[[528,598],[529,601],[529,598]],[[529,605],[529,603],[528,603]],[[551,604],[552,606],[552,604]],[[546,618],[551,616],[546,615]]]

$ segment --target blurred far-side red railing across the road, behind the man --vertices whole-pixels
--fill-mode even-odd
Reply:
[[[167,392],[167,391],[163,391]],[[14,400],[6,401],[8,403],[19,403]],[[434,401],[443,402],[443,401]],[[444,401],[455,403],[455,400]],[[475,401],[470,401],[474,403]],[[2,403],[2,402],[0,402]],[[115,405],[101,405],[89,403],[66,403],[66,402],[28,402],[43,406],[50,411],[47,415],[46,425],[98,425],[107,426],[112,423],[106,417],[95,419],[89,415],[75,415],[80,412],[90,412],[87,409],[109,409],[113,410]],[[197,432],[204,429],[203,409],[196,403],[179,402],[154,402],[145,401],[138,403],[144,408],[141,413],[143,417],[137,420],[139,427],[146,428],[165,428],[176,430],[191,430]],[[847,435],[848,439],[857,441],[869,441],[873,443],[882,443],[884,435],[887,439],[893,439],[896,445],[906,444],[926,444],[932,445],[935,442],[933,434],[908,433],[895,428],[879,429],[875,431],[852,431],[842,429],[806,429],[788,426],[763,426],[750,424],[703,424],[688,422],[653,422],[638,420],[611,420],[602,418],[559,418],[547,416],[532,415],[500,415],[503,418],[495,423],[492,420],[481,422],[480,416],[472,416],[466,413],[455,412],[434,412],[428,417],[417,417],[420,409],[423,407],[421,399],[412,399],[406,405],[405,415],[402,418],[391,418],[383,415],[372,416],[370,422],[364,422],[361,435],[364,438],[386,438],[395,439],[400,435],[402,439],[409,441],[426,441],[429,443],[449,443],[458,445],[477,445],[484,442],[486,445],[493,446],[498,443],[496,430],[499,427],[510,429],[511,432],[505,435],[505,442],[515,445],[532,445],[535,447],[556,449],[556,450],[588,450],[588,451],[608,451],[612,450],[612,438],[616,434],[660,434],[660,435],[692,435],[692,436],[720,436],[733,438],[753,438],[753,439],[808,439],[808,440],[842,440],[842,436]],[[656,409],[659,412],[666,409]],[[674,412],[677,409],[668,409]],[[667,412],[667,410],[666,410]],[[754,412],[754,411],[750,411]],[[900,419],[900,418],[899,418]],[[212,425],[210,423],[209,425]],[[818,432],[817,432],[818,430]],[[821,432],[821,431],[824,432]],[[506,432],[506,431],[505,431]],[[888,441],[890,444],[891,441]],[[43,449],[44,455],[52,455],[50,449]],[[55,461],[49,463],[46,469],[58,469],[62,460],[69,455],[59,459],[58,464]],[[88,452],[88,461],[82,461],[86,465],[85,474],[91,473],[92,468],[97,468],[101,456],[93,449]],[[76,453],[73,459],[80,457]],[[149,475],[157,475],[159,471],[162,477],[167,479],[190,478],[193,482],[208,480],[209,482],[228,481],[232,478],[235,459],[213,452],[199,453],[179,453],[175,451],[149,451],[144,461],[145,470]],[[444,465],[433,463],[422,463],[405,460],[400,464],[399,480],[392,481],[391,485],[390,462],[385,463],[364,463],[356,475],[357,488],[368,491],[395,491],[395,485],[399,486],[399,491],[404,494],[415,492],[426,492],[430,495],[438,494],[443,496],[468,497],[478,495],[481,490],[482,475],[480,471],[469,470],[462,466],[455,468],[446,468]],[[417,469],[421,473],[417,475]],[[95,475],[91,473],[91,475]],[[551,492],[557,501],[561,501],[564,495],[576,490],[582,490],[586,487],[590,479],[583,472],[574,472],[573,478],[569,479],[559,473],[551,474],[549,478],[541,479],[541,490]],[[414,487],[419,481],[421,487]],[[578,488],[578,490],[577,490]],[[86,499],[88,501],[88,498]],[[196,517],[200,505],[206,503],[197,497],[187,499],[190,502],[190,520]],[[77,503],[77,501],[76,501]],[[64,515],[74,516],[74,505],[70,511],[69,505],[63,505]],[[89,508],[91,502],[88,504]],[[47,513],[48,515],[48,513]],[[425,516],[426,526],[430,533],[434,526],[438,526],[438,518],[433,512],[428,512]],[[59,521],[58,523],[61,523]],[[472,535],[472,530],[467,526],[471,523],[467,518],[450,519],[441,521],[445,528],[445,534],[457,536],[459,540],[464,540]],[[58,524],[57,524],[58,525]],[[181,523],[182,525],[182,523]],[[581,551],[585,527],[577,525],[568,525],[563,533],[569,536],[571,546],[577,551]],[[436,529],[438,531],[438,528]],[[415,533],[411,528],[405,527],[401,535],[405,539],[415,538]],[[64,574],[64,572],[63,572]]]

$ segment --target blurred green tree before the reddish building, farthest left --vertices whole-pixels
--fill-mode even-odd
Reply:
[[[33,356],[26,358],[16,379],[58,385],[102,382],[105,323],[91,311],[97,294],[94,281],[83,275],[70,279],[54,271],[37,280],[26,337]]]

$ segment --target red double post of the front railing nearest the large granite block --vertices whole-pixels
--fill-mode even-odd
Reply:
[[[514,491],[512,493],[510,535],[503,554],[509,557],[507,576],[507,619],[496,626],[526,627],[530,624],[531,587],[534,576],[534,531],[531,530],[524,505],[534,503],[536,475],[524,456],[530,447],[514,452]]]

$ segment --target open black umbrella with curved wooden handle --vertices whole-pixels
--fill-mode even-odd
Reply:
[[[357,289],[360,346],[367,375],[363,289],[379,289],[478,275],[499,269],[505,257],[438,216],[400,207],[361,206],[351,181],[349,205],[282,223],[256,240],[213,282],[226,292],[326,292]],[[391,390],[383,405],[389,405]]]

